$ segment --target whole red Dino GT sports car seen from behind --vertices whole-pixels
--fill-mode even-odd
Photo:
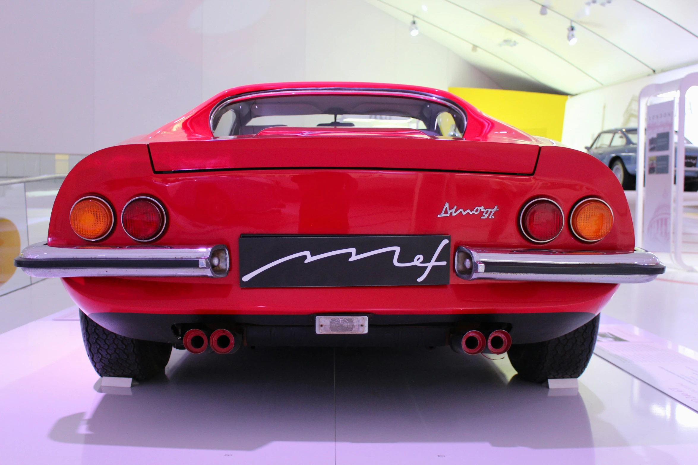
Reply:
[[[230,89],[64,181],[47,244],[102,376],[147,379],[172,346],[447,346],[577,377],[634,248],[615,176],[436,89]]]

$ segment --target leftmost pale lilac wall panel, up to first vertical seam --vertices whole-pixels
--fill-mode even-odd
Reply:
[[[0,151],[94,148],[93,17],[90,0],[2,2]]]

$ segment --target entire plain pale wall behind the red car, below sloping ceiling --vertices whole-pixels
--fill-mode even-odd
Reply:
[[[6,1],[0,43],[0,151],[90,153],[257,82],[499,88],[363,0]]]

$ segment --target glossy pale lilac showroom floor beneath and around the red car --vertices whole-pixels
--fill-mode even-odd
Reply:
[[[507,359],[447,348],[173,351],[165,376],[105,394],[75,310],[51,307],[57,282],[32,288],[0,298],[43,292],[52,313],[0,334],[3,465],[697,462],[698,413],[598,356],[579,393],[559,396],[518,380]],[[651,289],[673,294],[643,298]],[[696,290],[622,287],[608,311],[683,335]]]

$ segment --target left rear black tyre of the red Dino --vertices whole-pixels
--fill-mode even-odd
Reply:
[[[138,381],[152,378],[165,369],[172,344],[120,336],[99,326],[80,310],[82,340],[99,376],[120,376]]]

